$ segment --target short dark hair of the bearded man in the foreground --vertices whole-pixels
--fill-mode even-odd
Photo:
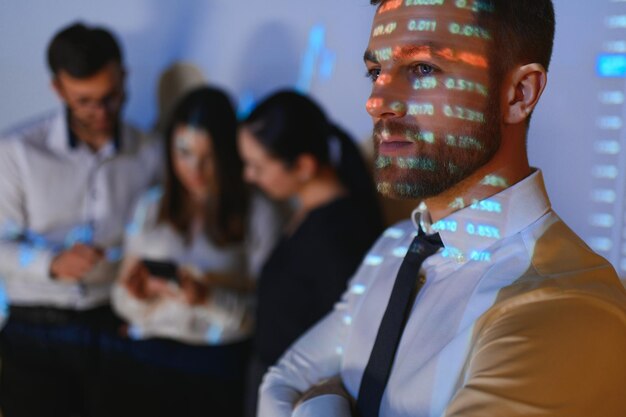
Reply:
[[[386,1],[371,0],[371,4]],[[496,74],[533,62],[548,69],[555,31],[552,0],[476,0],[476,5],[477,20],[494,39],[491,62],[496,64]]]

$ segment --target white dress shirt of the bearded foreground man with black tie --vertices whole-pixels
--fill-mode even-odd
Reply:
[[[428,224],[425,206],[369,252],[334,310],[266,374],[260,417],[363,371],[417,224],[445,249],[426,259],[382,398],[381,417],[623,417],[626,291],[614,269],[551,210],[539,171]],[[294,416],[349,416],[315,397]]]

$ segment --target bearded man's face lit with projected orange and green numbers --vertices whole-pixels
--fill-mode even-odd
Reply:
[[[394,198],[436,196],[500,145],[490,33],[462,3],[418,3],[428,2],[383,3],[365,53],[376,181]]]

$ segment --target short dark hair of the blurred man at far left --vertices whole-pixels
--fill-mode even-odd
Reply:
[[[75,23],[58,32],[48,46],[48,66],[54,75],[65,71],[87,78],[110,62],[122,64],[122,53],[113,34],[101,27]]]

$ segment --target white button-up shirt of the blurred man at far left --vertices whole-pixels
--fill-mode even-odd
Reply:
[[[160,170],[160,147],[126,124],[97,152],[69,136],[57,111],[0,139],[0,276],[10,304],[107,303],[124,226]],[[51,260],[74,243],[103,248],[105,259],[80,283],[52,278]]]

